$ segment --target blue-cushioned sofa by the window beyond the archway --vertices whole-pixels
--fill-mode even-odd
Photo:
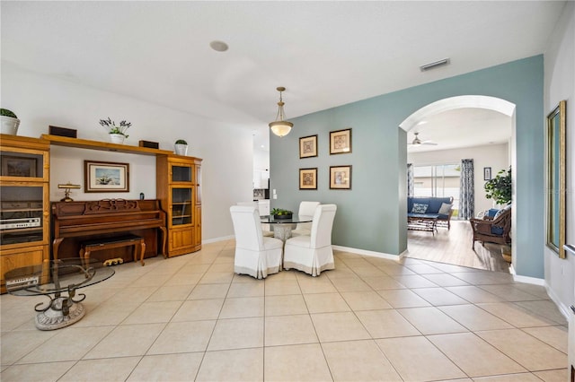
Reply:
[[[407,197],[407,228],[418,227],[410,224],[415,221],[434,221],[435,225],[451,229],[453,214],[453,196],[408,196]],[[417,228],[414,228],[417,229]],[[435,227],[433,227],[435,229]]]

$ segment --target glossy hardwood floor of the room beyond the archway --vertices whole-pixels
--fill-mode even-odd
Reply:
[[[481,242],[476,241],[473,251],[472,236],[469,221],[451,221],[451,230],[440,227],[435,235],[427,231],[408,230],[405,256],[509,273],[509,263],[501,256],[501,246],[485,243],[483,247]]]

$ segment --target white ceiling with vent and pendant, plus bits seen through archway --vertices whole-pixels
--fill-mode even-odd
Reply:
[[[2,60],[249,128],[267,148],[278,86],[298,117],[541,54],[564,3],[2,1]],[[484,117],[436,118],[463,139]]]

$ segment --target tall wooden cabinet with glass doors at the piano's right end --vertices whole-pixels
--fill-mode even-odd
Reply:
[[[156,157],[156,196],[167,213],[168,256],[201,249],[201,160]]]

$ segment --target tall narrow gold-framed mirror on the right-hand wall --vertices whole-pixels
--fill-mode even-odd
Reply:
[[[547,247],[565,258],[565,108],[566,101],[547,116]]]

